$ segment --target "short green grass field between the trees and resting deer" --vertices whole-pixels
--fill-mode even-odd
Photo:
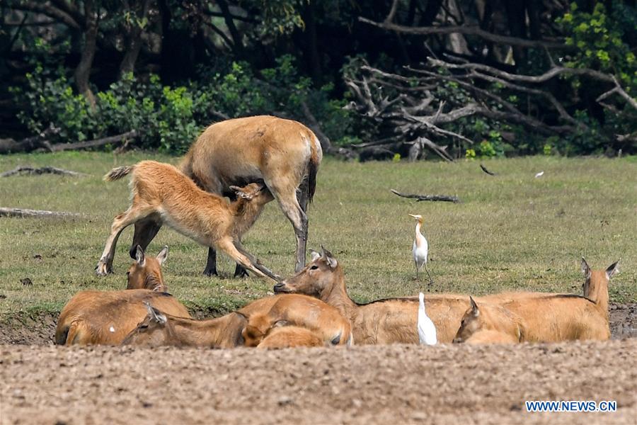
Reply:
[[[148,158],[178,160],[149,152],[0,157],[0,171],[30,164],[90,174],[0,179],[0,206],[85,215],[74,220],[0,218],[0,320],[20,312],[57,312],[79,290],[125,287],[132,228],[120,237],[115,275],[93,274],[111,220],[128,205],[127,184],[101,178],[113,166]],[[356,300],[413,295],[427,285],[414,278],[411,212],[425,217],[435,280],[431,290],[580,293],[581,256],[593,268],[621,257],[611,298],[636,301],[636,158],[532,157],[486,165],[498,176],[484,174],[478,162],[357,164],[325,159],[309,211],[309,246],[323,244],[341,261]],[[544,176],[535,179],[537,171],[545,171]],[[454,194],[462,203],[414,203],[390,188]],[[165,277],[171,292],[195,311],[232,310],[272,288],[265,280],[229,278],[234,265],[224,256],[219,257],[219,270],[226,278],[203,277],[206,250],[170,229],[159,232],[149,252],[156,254],[164,244],[170,246]],[[294,235],[275,203],[265,209],[245,244],[273,271],[292,274]],[[27,277],[33,285],[22,285]]]

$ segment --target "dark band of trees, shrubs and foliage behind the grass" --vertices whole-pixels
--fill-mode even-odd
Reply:
[[[183,152],[214,121],[268,113],[314,123],[336,146],[391,140],[390,158],[423,136],[450,157],[637,152],[631,1],[0,0],[0,7],[0,137],[54,126],[52,142],[81,142],[137,130],[134,146]],[[444,26],[461,30],[412,31]],[[584,72],[547,80],[541,90],[558,105],[547,108],[546,95],[523,80],[475,79],[427,58],[520,76],[567,67],[606,79]],[[480,108],[444,121],[443,132],[427,125],[397,132],[396,115],[427,98],[427,120]],[[396,99],[394,109],[375,113],[372,99]]]

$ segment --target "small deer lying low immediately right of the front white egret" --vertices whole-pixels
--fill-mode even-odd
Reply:
[[[472,297],[469,297],[469,302],[471,302],[471,307],[466,310],[460,321],[460,328],[454,337],[454,343],[481,344],[484,341],[524,341],[524,324],[516,314],[505,307],[488,303],[478,308]]]

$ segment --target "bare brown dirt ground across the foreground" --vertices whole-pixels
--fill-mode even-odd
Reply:
[[[1,346],[3,424],[634,423],[637,339],[261,351]],[[529,413],[525,400],[616,400]]]

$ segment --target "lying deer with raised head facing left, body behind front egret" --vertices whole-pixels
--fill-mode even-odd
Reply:
[[[350,320],[355,344],[418,344],[418,297],[390,298],[357,304],[349,297],[340,263],[323,249],[312,251],[312,261],[292,278],[274,287],[275,293],[302,293],[319,298]],[[427,295],[427,315],[437,339],[451,342],[460,318],[469,306],[464,295]]]

